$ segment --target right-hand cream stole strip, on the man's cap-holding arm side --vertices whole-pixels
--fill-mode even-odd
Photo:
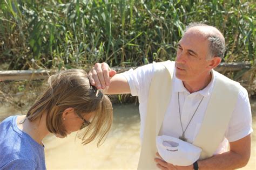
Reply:
[[[219,144],[224,139],[225,131],[230,122],[239,93],[239,83],[228,79],[224,75],[216,76],[213,93],[206,113],[193,145],[201,147],[199,160],[212,157]]]

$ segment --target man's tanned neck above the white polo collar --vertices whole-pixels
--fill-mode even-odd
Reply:
[[[206,75],[204,79],[199,79],[198,81],[183,81],[184,87],[190,92],[194,93],[196,91],[204,89],[212,80],[211,72]]]

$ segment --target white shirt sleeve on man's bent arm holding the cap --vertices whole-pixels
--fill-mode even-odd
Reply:
[[[246,89],[241,87],[225,137],[232,142],[246,137],[252,131],[251,105]]]

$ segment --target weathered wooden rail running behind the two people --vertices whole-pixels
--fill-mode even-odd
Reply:
[[[118,73],[124,72],[131,68],[136,67],[112,67]],[[237,63],[220,63],[220,65],[215,68],[217,72],[234,72],[241,69],[250,69],[250,62],[237,62]],[[49,75],[56,73],[57,70],[6,70],[0,71],[0,81],[6,80],[36,80],[36,79],[47,79]]]

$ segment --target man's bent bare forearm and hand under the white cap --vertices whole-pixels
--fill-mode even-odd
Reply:
[[[158,157],[160,156],[157,154]],[[230,142],[230,151],[214,155],[211,158],[198,161],[199,169],[237,169],[244,167],[250,159],[251,155],[251,134]],[[190,166],[174,166],[168,164],[162,159],[156,158],[157,166],[160,169],[193,169]]]

